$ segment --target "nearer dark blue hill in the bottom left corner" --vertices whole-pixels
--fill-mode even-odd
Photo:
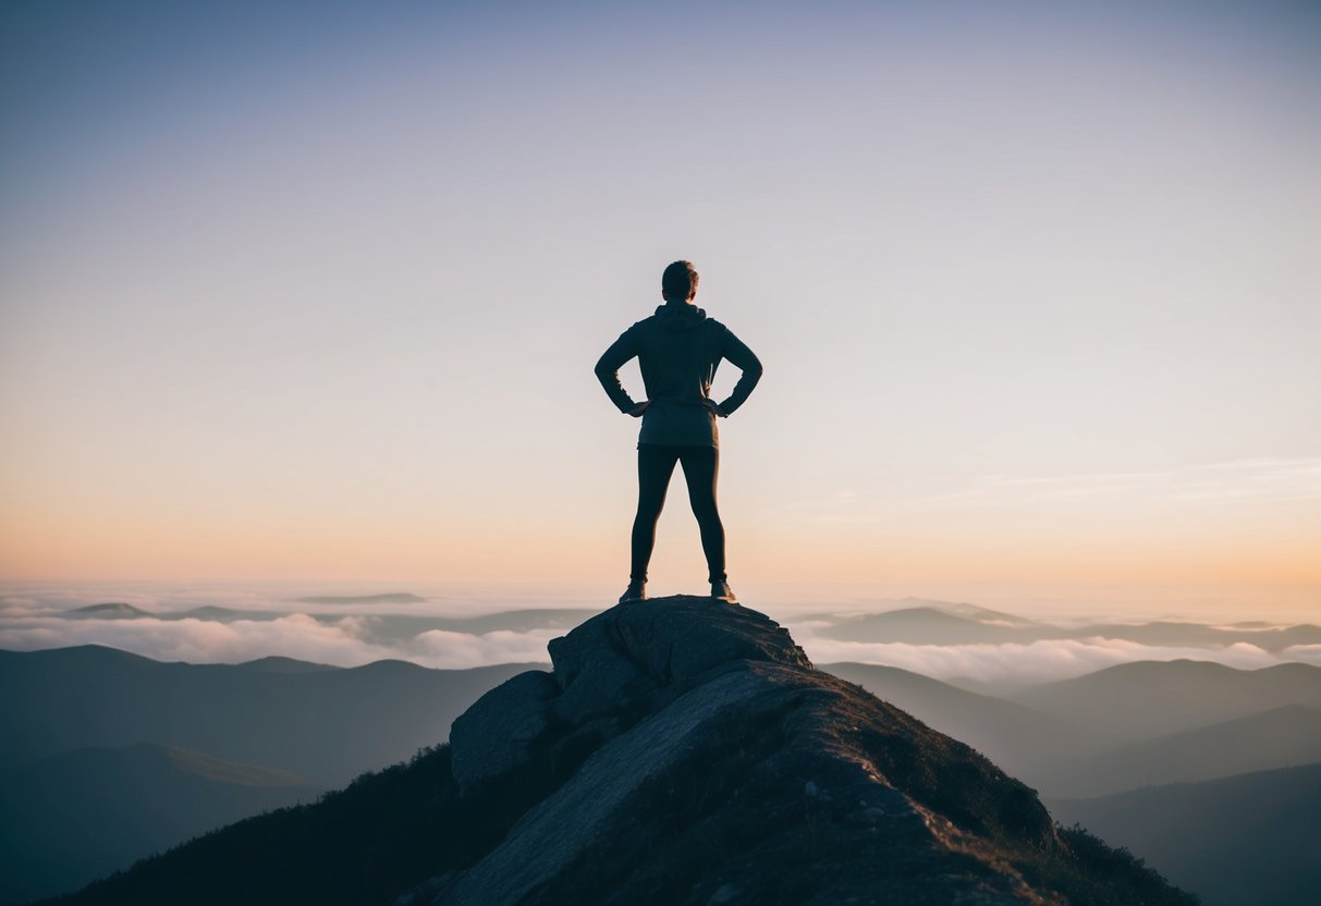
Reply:
[[[12,767],[0,775],[0,902],[74,890],[181,840],[318,792],[288,771],[149,744]]]

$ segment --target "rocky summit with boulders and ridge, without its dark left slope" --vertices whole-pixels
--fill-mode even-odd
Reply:
[[[396,906],[1196,902],[754,610],[627,602],[550,654],[454,721],[449,765],[470,814],[555,783]]]

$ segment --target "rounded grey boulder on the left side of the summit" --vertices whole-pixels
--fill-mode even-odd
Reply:
[[[461,792],[499,777],[527,758],[551,724],[555,678],[542,670],[511,676],[454,720],[449,749]]]

